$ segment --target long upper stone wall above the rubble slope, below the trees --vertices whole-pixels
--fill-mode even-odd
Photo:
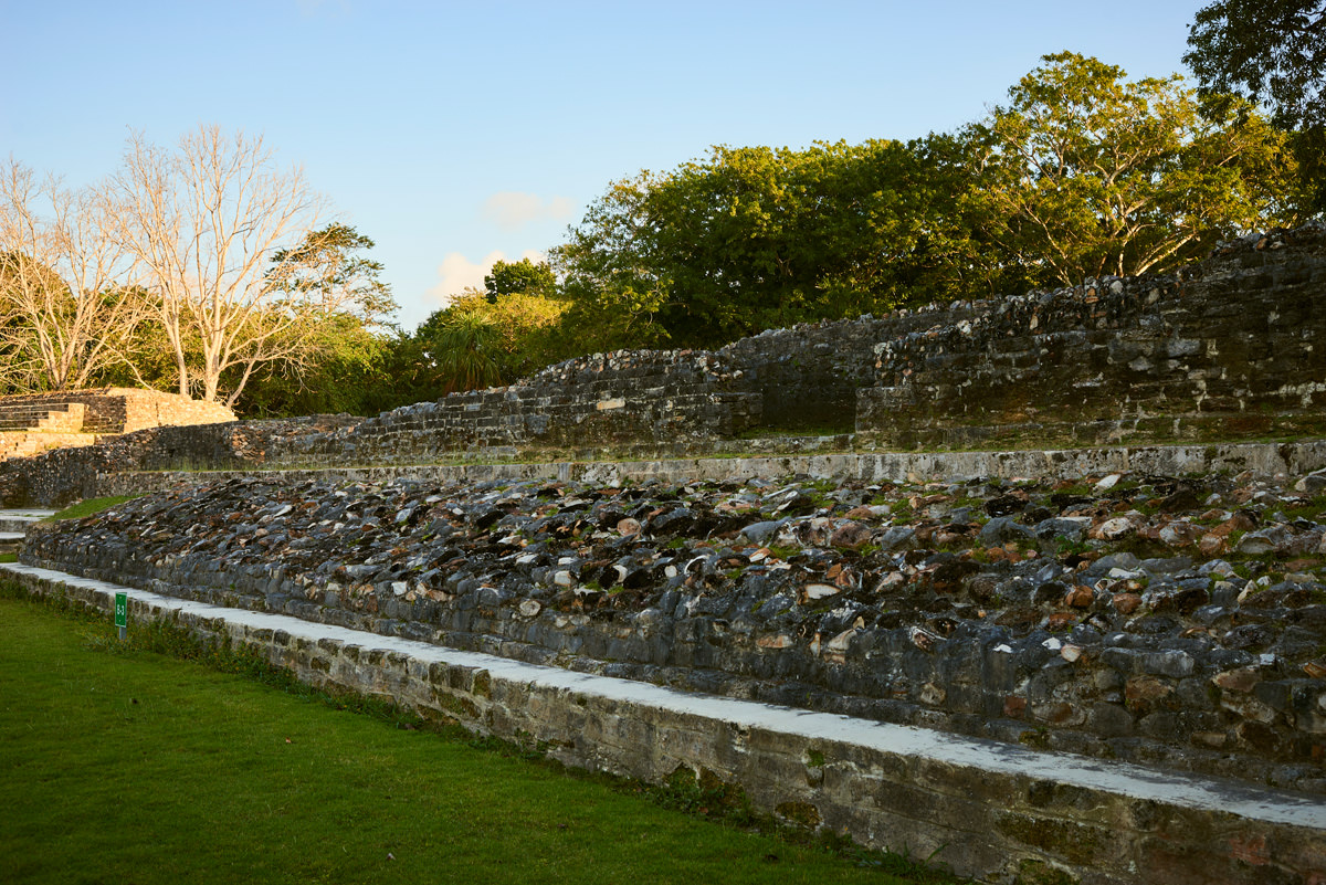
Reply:
[[[236,457],[286,468],[418,465],[457,456],[659,457],[724,443],[754,448],[740,437],[761,429],[853,424],[857,436],[842,446],[1322,436],[1326,311],[1317,299],[1323,289],[1326,229],[1302,228],[1229,244],[1179,276],[1103,278],[1001,301],[804,325],[715,352],[595,354],[509,387],[346,420],[335,429],[276,433],[245,456],[217,449],[211,431],[160,435],[135,449],[137,469],[180,461],[233,468]],[[182,420],[171,409],[206,408],[129,393],[143,396],[111,397],[126,416],[155,409],[156,420],[167,413]],[[146,419],[123,420],[131,427]],[[265,431],[255,424],[245,433],[257,439]],[[220,454],[210,461],[212,452]],[[86,452],[32,470],[93,474],[103,468],[88,465],[111,462],[127,468],[122,457]],[[0,492],[4,484],[0,476]],[[74,489],[81,481],[29,485]],[[50,503],[61,494],[41,492],[34,499]]]

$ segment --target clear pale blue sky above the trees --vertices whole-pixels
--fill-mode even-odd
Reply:
[[[614,179],[952,130],[1062,49],[1181,72],[1201,5],[0,0],[0,155],[85,184],[130,130],[261,134],[377,241],[410,329]]]

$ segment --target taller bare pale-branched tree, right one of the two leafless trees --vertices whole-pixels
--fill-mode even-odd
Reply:
[[[167,152],[134,135],[105,200],[146,270],[182,395],[215,401],[233,370],[229,405],[256,367],[308,356],[308,293],[276,285],[269,262],[316,228],[322,199],[261,138],[204,126]]]

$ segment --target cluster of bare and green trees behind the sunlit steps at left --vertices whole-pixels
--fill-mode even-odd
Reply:
[[[0,167],[0,390],[174,387],[249,413],[363,411],[395,309],[373,246],[261,139],[130,139],[70,191]]]

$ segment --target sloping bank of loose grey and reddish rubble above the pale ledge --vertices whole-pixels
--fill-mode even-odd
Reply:
[[[522,661],[1326,792],[1326,472],[233,478],[23,560]]]

